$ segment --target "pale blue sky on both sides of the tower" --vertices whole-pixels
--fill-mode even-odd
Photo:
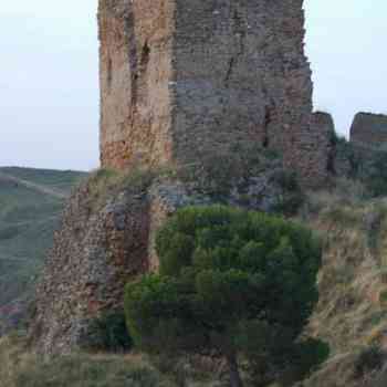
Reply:
[[[188,1],[188,0],[187,0]],[[0,4],[0,166],[98,165],[97,0]],[[387,1],[306,0],[315,109],[387,113]]]

